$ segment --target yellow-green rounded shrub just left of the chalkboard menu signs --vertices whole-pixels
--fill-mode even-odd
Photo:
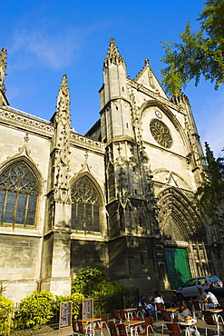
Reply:
[[[17,329],[38,329],[53,317],[54,295],[51,292],[33,292],[25,297],[15,314]]]

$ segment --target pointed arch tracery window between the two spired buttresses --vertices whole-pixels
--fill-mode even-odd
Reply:
[[[86,176],[73,184],[72,230],[101,232],[100,195],[93,182]]]

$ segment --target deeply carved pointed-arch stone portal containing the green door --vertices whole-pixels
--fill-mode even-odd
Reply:
[[[171,289],[190,277],[205,275],[209,263],[203,228],[190,199],[176,187],[159,194],[159,221]]]

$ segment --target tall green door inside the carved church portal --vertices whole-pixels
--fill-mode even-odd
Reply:
[[[177,290],[191,278],[187,251],[173,247],[165,247],[164,250],[171,289]]]

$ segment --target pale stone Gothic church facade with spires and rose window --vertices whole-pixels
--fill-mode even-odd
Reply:
[[[151,294],[210,273],[191,200],[205,180],[185,95],[169,99],[146,59],[131,80],[113,39],[100,119],[71,128],[64,74],[50,121],[9,106],[0,64],[0,243],[5,295],[68,295],[88,265]],[[212,270],[213,271],[213,270]],[[217,274],[219,275],[219,274]]]

